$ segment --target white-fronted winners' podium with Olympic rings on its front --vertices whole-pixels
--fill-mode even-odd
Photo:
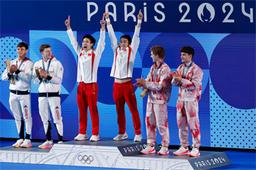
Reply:
[[[54,144],[50,149],[39,149],[39,144],[42,143],[32,142],[31,148],[1,147],[0,161],[118,169],[193,169],[189,160],[195,159],[189,155],[173,155],[176,150],[169,150],[169,155],[158,155],[157,152],[140,154],[138,148],[142,150],[142,147],[146,147],[146,142],[133,142],[132,139],[113,141],[112,138],[100,138],[97,142],[69,141]],[[137,153],[125,156],[122,155],[121,148],[126,152]],[[217,153],[219,152],[200,151],[200,158]]]

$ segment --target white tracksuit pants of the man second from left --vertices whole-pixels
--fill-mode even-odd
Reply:
[[[61,98],[60,97],[39,97],[39,114],[45,128],[45,134],[48,131],[50,122],[50,112],[53,116],[53,123],[55,123],[58,134],[63,136],[63,123],[61,117]]]

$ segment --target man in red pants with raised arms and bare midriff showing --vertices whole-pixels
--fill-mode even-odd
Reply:
[[[135,55],[140,45],[140,25],[143,18],[143,14],[140,12],[138,15],[138,24],[135,26],[135,34],[132,39],[129,35],[121,36],[120,45],[118,45],[116,35],[113,31],[113,27],[110,23],[109,14],[104,14],[108,24],[108,34],[111,40],[111,47],[114,53],[113,66],[110,76],[115,77],[113,85],[113,98],[116,103],[117,123],[118,123],[118,136],[114,140],[127,139],[126,133],[126,120],[124,112],[124,104],[127,102],[129,110],[132,113],[133,125],[135,128],[134,141],[141,141],[140,131],[140,116],[137,108],[137,101],[135,96],[135,90],[132,85],[132,71],[135,61]]]

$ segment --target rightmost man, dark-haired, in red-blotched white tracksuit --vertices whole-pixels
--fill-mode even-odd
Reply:
[[[197,66],[192,58],[195,50],[186,46],[181,48],[181,61],[183,64],[178,66],[173,72],[172,84],[178,86],[177,101],[177,123],[178,134],[181,140],[181,147],[174,155],[199,156],[200,147],[200,125],[198,117],[198,101],[201,98],[203,71]],[[189,153],[189,125],[193,138],[192,151]]]

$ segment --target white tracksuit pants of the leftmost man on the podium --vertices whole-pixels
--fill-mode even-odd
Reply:
[[[23,117],[26,125],[26,134],[30,135],[32,128],[30,94],[17,95],[10,93],[9,103],[10,109],[15,117],[18,134],[20,134],[20,131],[22,133],[24,132],[23,129],[21,129]],[[20,134],[20,136],[24,136],[24,134]]]

